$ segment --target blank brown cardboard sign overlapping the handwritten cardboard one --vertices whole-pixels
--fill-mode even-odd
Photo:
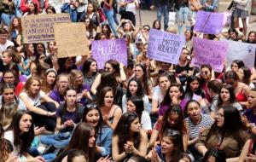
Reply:
[[[84,23],[61,23],[54,25],[58,58],[89,55],[88,38]]]

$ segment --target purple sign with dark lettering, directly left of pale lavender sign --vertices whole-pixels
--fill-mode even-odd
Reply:
[[[201,67],[203,64],[211,65],[215,72],[222,72],[229,43],[224,41],[213,41],[202,38],[193,38],[195,57],[192,64]]]

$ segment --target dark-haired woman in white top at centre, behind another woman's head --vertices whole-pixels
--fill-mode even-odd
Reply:
[[[144,93],[143,93],[143,84],[137,78],[131,78],[131,80],[129,80],[129,82],[128,82],[128,89],[126,91],[126,94],[123,95],[123,98],[122,98],[123,113],[126,113],[126,111],[127,111],[127,107],[126,107],[127,101],[132,96],[137,96],[137,97],[141,98],[143,100],[143,110],[147,110],[148,103],[149,103],[148,96],[144,95]]]

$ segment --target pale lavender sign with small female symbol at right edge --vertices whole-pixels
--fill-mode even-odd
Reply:
[[[228,65],[231,66],[232,61],[241,60],[246,67],[254,67],[254,60],[256,55],[256,44],[241,43],[236,41],[226,41],[229,43],[229,50],[227,55]]]

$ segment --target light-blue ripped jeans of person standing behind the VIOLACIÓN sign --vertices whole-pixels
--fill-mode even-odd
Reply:
[[[177,11],[177,26],[178,26],[178,34],[183,34],[183,25],[186,26],[187,30],[190,30],[189,24],[189,8],[180,8]]]

